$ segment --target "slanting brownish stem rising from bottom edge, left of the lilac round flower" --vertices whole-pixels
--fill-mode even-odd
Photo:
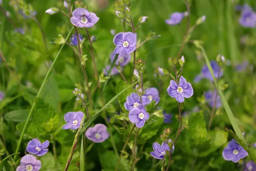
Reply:
[[[85,109],[86,109],[87,115],[89,115],[87,106],[85,107]],[[83,116],[83,118],[82,118],[82,120],[81,120],[81,123],[80,123],[80,127],[79,127],[79,129],[77,130],[77,132],[76,132],[76,136],[75,136],[75,139],[74,139],[74,142],[73,142],[73,145],[72,145],[72,148],[71,148],[69,157],[68,157],[68,159],[67,159],[67,163],[66,163],[66,166],[65,166],[64,171],[67,171],[67,169],[68,169],[68,167],[69,167],[69,165],[70,165],[71,159],[72,159],[72,157],[73,157],[73,154],[74,154],[74,151],[75,151],[75,149],[76,149],[76,145],[77,145],[77,142],[78,142],[78,139],[79,139],[79,134],[80,134],[80,132],[81,132],[81,130],[82,130],[82,127],[83,127],[83,123],[84,123],[85,117],[86,117],[86,115],[84,114],[84,116]]]

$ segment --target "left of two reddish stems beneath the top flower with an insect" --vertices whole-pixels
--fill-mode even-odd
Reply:
[[[77,43],[78,43],[78,52],[79,52],[79,59],[81,61],[82,59],[82,56],[83,56],[83,51],[81,49],[81,46],[80,46],[80,40],[79,40],[79,35],[78,35],[78,30],[76,28],[76,26],[74,26],[75,30],[76,30],[76,38],[77,38]],[[82,70],[83,70],[83,74],[84,74],[84,79],[85,79],[85,84],[87,86],[87,89],[88,89],[88,97],[89,97],[89,100],[90,100],[90,107],[92,107],[93,105],[93,99],[92,99],[92,96],[91,96],[91,93],[90,93],[90,86],[89,86],[89,81],[88,81],[88,77],[87,77],[87,73],[86,73],[86,70],[84,68],[83,65],[81,65],[82,67]]]

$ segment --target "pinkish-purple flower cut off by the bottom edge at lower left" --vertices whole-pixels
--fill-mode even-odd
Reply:
[[[16,171],[39,171],[41,169],[41,161],[37,160],[35,156],[26,154],[20,160],[20,165]]]

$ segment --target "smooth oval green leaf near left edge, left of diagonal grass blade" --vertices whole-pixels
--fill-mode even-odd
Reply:
[[[13,122],[23,122],[27,119],[29,110],[13,110],[4,115],[4,119]]]

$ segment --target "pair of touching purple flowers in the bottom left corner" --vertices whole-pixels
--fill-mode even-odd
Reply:
[[[26,154],[20,160],[20,165],[17,167],[16,171],[39,171],[41,169],[41,161],[37,160],[34,154],[38,157],[43,156],[48,152],[47,147],[49,146],[49,141],[45,141],[41,144],[38,139],[32,139],[29,141],[26,151],[29,154]]]

